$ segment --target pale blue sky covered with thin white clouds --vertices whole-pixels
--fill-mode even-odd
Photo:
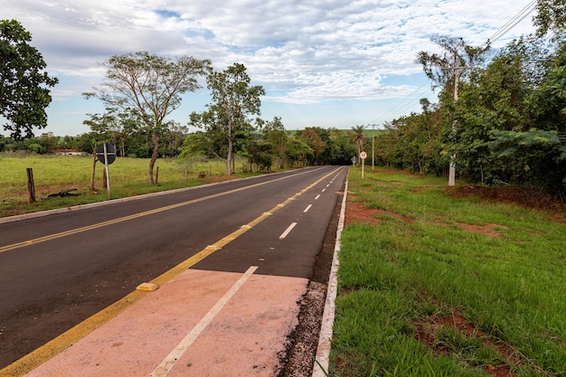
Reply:
[[[495,49],[533,33],[530,0],[0,0],[0,17],[32,33],[33,47],[59,84],[52,88],[48,126],[35,135],[77,136],[98,99],[104,61],[146,51],[175,59],[210,59],[215,71],[244,64],[251,85],[266,90],[265,120],[286,129],[382,127],[437,102],[416,62],[439,52],[433,34]],[[520,16],[520,17],[519,17]],[[523,18],[522,21],[519,20]],[[512,23],[513,22],[513,23]],[[516,24],[515,24],[516,22]],[[511,27],[513,26],[513,27]],[[508,30],[510,29],[510,30]],[[203,89],[184,95],[168,120],[212,103]],[[4,122],[2,122],[4,123]],[[372,126],[374,125],[374,126]],[[194,131],[195,128],[191,128]]]

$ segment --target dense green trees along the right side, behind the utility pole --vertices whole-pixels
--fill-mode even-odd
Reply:
[[[566,193],[566,5],[539,1],[536,33],[498,51],[435,35],[417,63],[439,91],[421,111],[384,124],[381,164],[479,184]]]

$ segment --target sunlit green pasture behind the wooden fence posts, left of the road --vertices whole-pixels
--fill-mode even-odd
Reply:
[[[174,159],[158,159],[154,168],[156,174],[158,167],[158,183],[152,186],[147,183],[148,166],[148,159],[118,157],[109,165],[111,198],[204,184],[226,173],[226,165],[218,160],[180,163]],[[235,176],[250,175],[238,173],[243,170],[241,166],[237,161]],[[36,203],[28,203],[28,167],[33,169]],[[0,155],[0,217],[108,200],[103,171],[104,165],[97,163],[95,192],[91,192],[92,157]],[[201,173],[205,178],[198,178]],[[49,194],[70,189],[77,189],[71,193],[78,195],[47,199]]]

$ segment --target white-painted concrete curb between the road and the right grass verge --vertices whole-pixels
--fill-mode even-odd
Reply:
[[[348,181],[344,187],[344,198],[342,199],[342,208],[340,209],[340,219],[338,220],[338,230],[336,231],[335,253],[332,259],[332,267],[330,269],[330,277],[328,278],[328,289],[326,291],[325,310],[322,316],[322,325],[320,335],[318,336],[318,346],[316,348],[316,363],[313,367],[312,377],[328,376],[328,364],[330,358],[330,345],[333,335],[333,326],[335,321],[335,299],[338,290],[337,272],[339,266],[338,252],[340,251],[340,237],[344,230],[344,217],[346,209],[346,196],[348,193]]]

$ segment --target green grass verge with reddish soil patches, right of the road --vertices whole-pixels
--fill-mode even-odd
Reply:
[[[564,217],[434,177],[348,179],[328,375],[566,376]]]

